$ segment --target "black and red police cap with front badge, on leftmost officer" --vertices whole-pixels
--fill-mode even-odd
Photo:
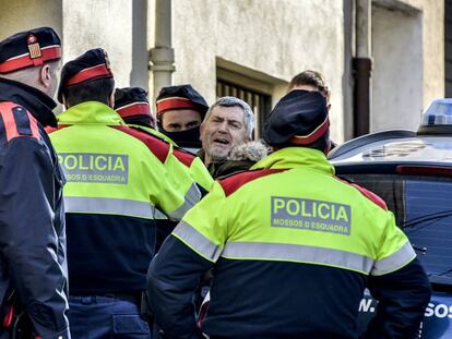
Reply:
[[[61,40],[50,27],[21,32],[0,41],[2,74],[58,59],[61,59]]]

